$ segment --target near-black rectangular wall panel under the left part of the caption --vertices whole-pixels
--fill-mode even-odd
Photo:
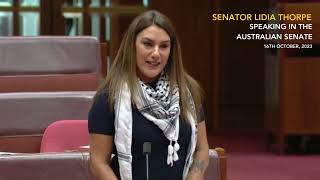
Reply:
[[[265,13],[268,2],[219,1],[218,8],[219,13]],[[252,22],[219,23],[218,97],[222,131],[263,130],[264,42],[236,40],[238,33],[252,33],[249,23]]]

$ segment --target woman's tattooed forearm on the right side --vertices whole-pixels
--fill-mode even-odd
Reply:
[[[190,167],[187,180],[201,180],[209,163],[209,145],[207,141],[206,124],[198,124],[197,145],[194,152],[193,163]]]

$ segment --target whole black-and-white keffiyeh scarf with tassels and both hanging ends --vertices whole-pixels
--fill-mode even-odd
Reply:
[[[192,98],[190,99],[193,104]],[[168,144],[167,164],[173,166],[173,163],[179,160],[177,152],[180,149],[178,144],[180,116],[179,88],[177,86],[170,87],[170,83],[165,75],[159,78],[155,88],[140,80],[136,106],[141,114],[157,125],[170,141]],[[192,116],[193,113],[191,112],[188,114],[192,133],[183,179],[185,179],[188,174],[196,146],[195,117]],[[131,93],[127,84],[122,84],[119,96],[116,98],[114,141],[118,153],[121,179],[131,180],[132,107]]]

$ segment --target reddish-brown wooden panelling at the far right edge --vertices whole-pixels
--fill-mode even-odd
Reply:
[[[320,22],[320,5],[317,3],[284,3],[279,5],[281,13],[311,13],[312,24]],[[283,22],[289,23],[289,22]],[[310,23],[310,22],[300,22]],[[272,150],[283,154],[288,152],[289,136],[320,135],[320,55],[317,51],[320,45],[318,26],[311,31],[312,41],[293,40],[290,43],[312,44],[312,49],[277,49],[279,59],[270,68],[279,67],[278,75],[269,77],[278,82],[278,86],[268,88],[267,96],[267,132],[275,137],[268,142]],[[284,30],[283,33],[302,33],[301,30]],[[281,41],[288,43],[287,41]],[[268,80],[268,79],[267,79]],[[267,100],[268,100],[267,99]],[[270,144],[273,143],[273,144]],[[272,146],[273,145],[273,146]]]

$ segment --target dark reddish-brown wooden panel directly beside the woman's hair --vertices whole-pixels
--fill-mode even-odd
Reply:
[[[170,4],[170,6],[168,6]],[[200,82],[205,91],[206,123],[209,130],[214,129],[213,84],[214,59],[211,22],[214,1],[151,1],[151,9],[159,10],[173,22],[181,46],[186,70]]]

